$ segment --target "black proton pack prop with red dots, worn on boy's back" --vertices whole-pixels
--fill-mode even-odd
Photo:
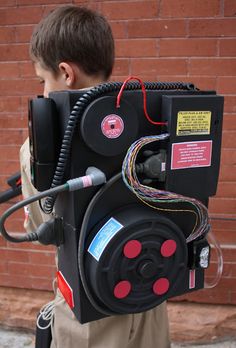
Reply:
[[[54,217],[22,239],[58,246],[58,287],[81,323],[206,287],[222,118],[214,91],[137,78],[30,101],[42,191],[30,202],[47,197]]]

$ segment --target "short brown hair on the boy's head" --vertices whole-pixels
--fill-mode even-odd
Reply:
[[[88,75],[107,79],[114,64],[111,28],[102,15],[88,8],[59,7],[36,26],[30,55],[55,74],[65,61],[76,63]]]

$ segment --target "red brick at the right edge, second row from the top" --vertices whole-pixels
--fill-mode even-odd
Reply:
[[[190,37],[221,37],[235,35],[236,19],[190,19],[189,21]]]

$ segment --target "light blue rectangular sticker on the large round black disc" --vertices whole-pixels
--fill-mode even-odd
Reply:
[[[110,240],[117,234],[117,232],[120,231],[120,229],[123,227],[114,218],[110,218],[105,225],[103,225],[98,233],[93,238],[89,248],[88,252],[97,260],[99,261],[104,249],[106,248],[107,244],[110,242]]]

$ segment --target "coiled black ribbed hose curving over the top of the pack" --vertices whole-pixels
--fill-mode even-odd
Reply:
[[[105,93],[119,91],[123,82],[107,82],[84,93],[75,103],[68,119],[67,128],[62,140],[60,154],[52,180],[51,188],[61,185],[66,170],[67,161],[70,155],[72,139],[79,118],[83,115],[85,108],[96,98]],[[196,90],[191,83],[185,82],[144,82],[146,90]],[[125,86],[125,90],[138,90],[140,84],[138,82],[129,82]],[[43,211],[46,214],[51,214],[56,196],[49,196],[43,204]]]

